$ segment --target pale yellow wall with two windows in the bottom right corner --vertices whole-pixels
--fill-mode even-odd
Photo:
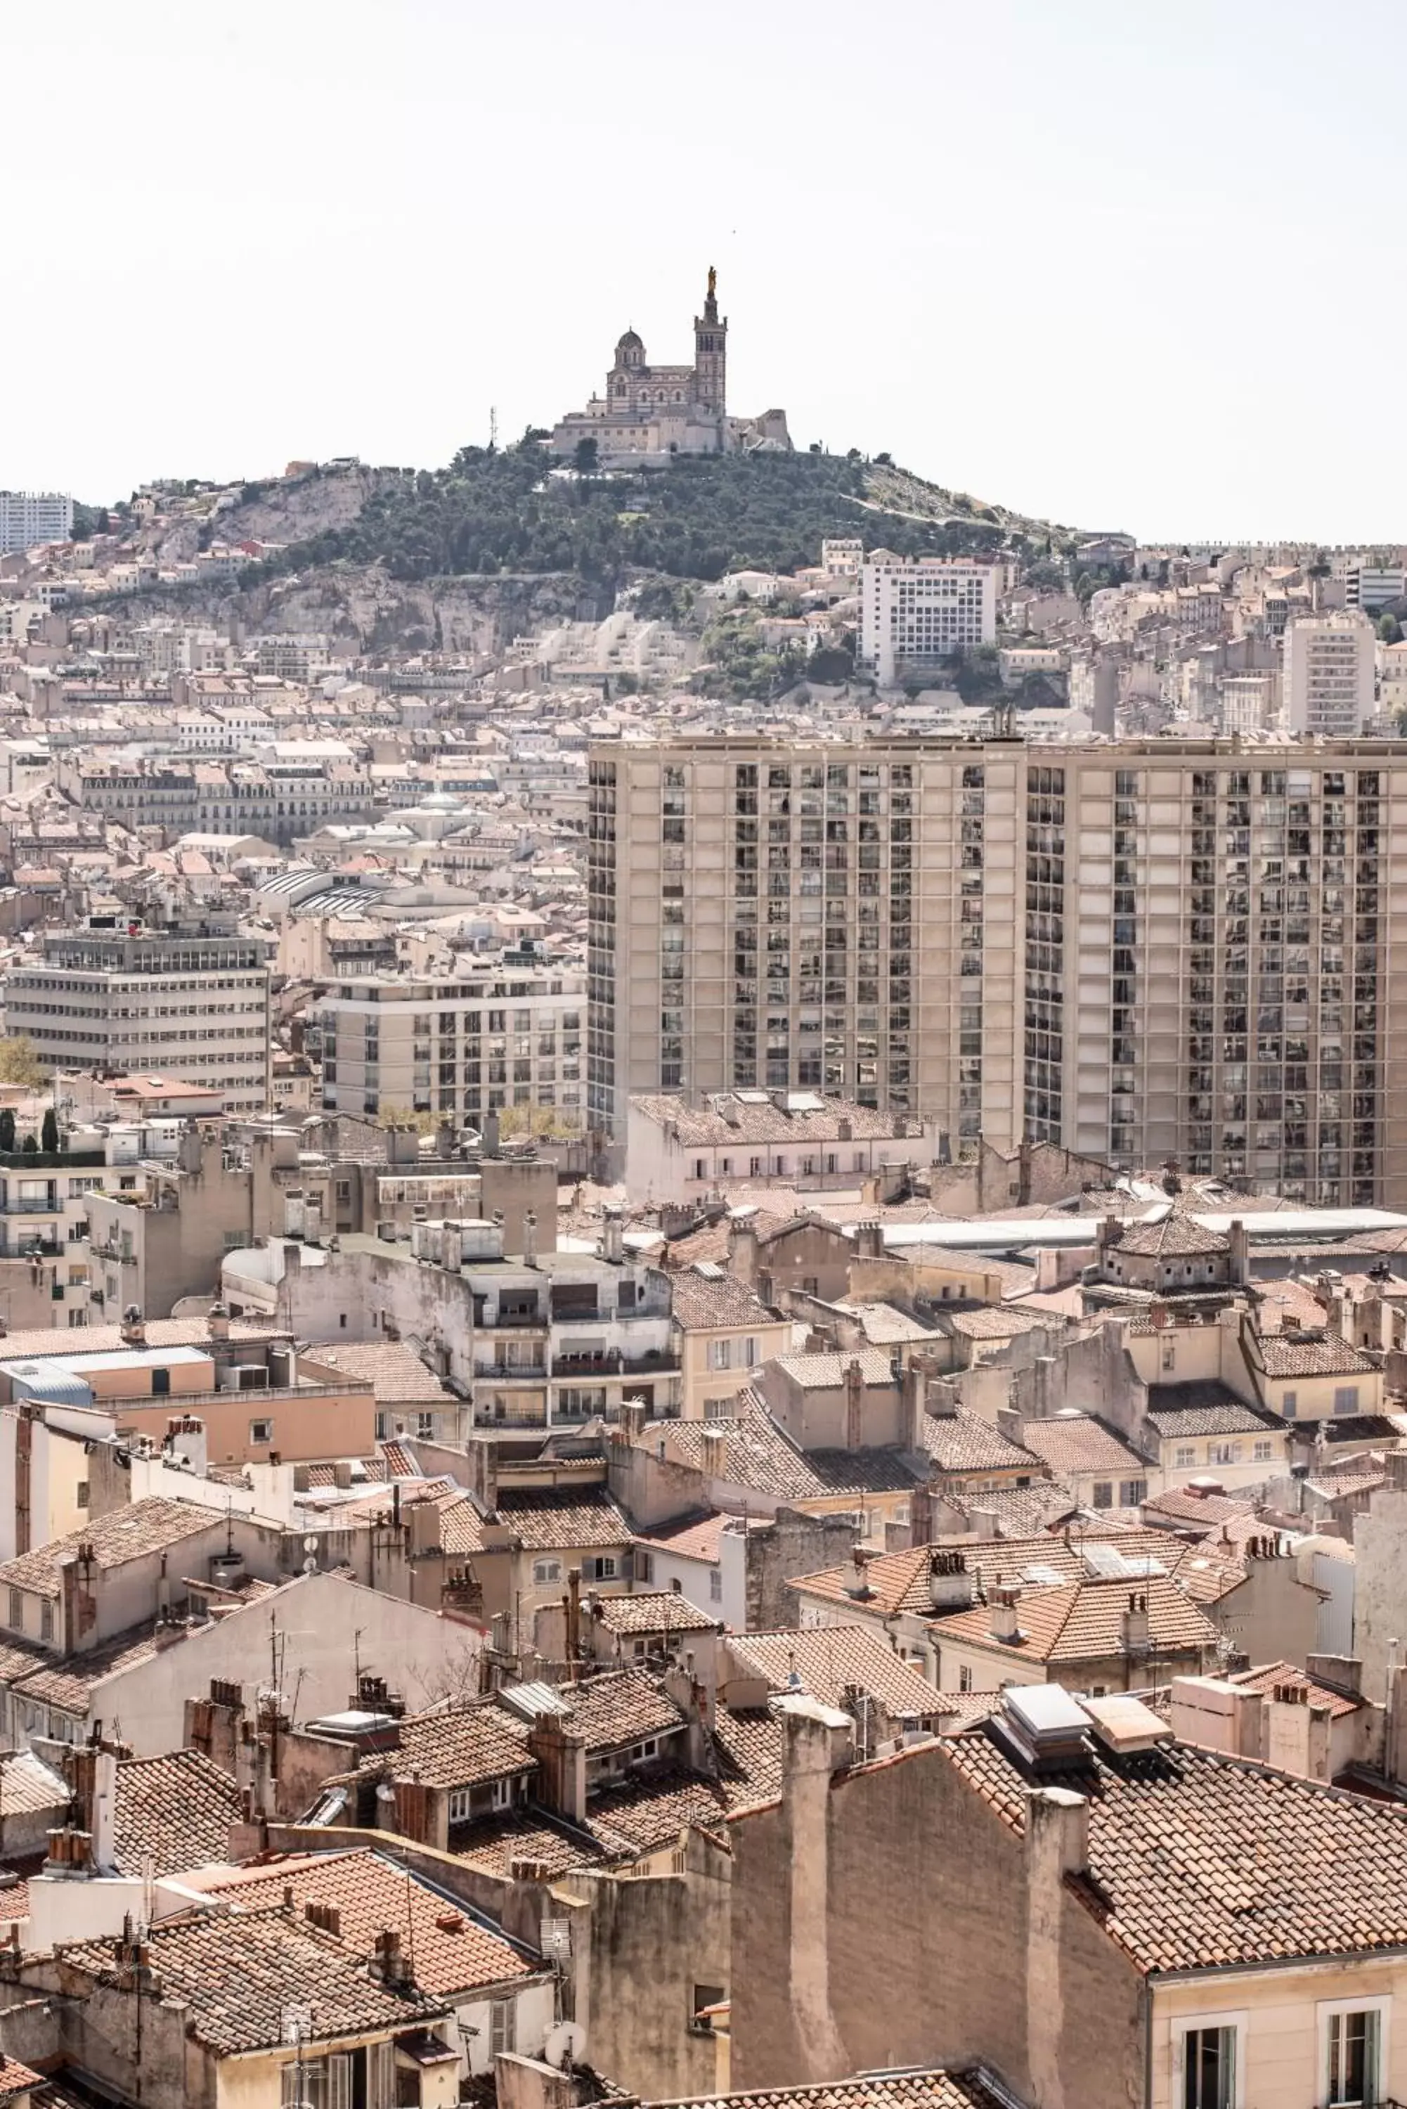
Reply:
[[[1321,2071],[1318,2014],[1325,1999],[1377,1999],[1390,1995],[1386,2020],[1384,2094],[1407,2098],[1407,1959],[1354,1961],[1304,1970],[1217,1974],[1188,1985],[1156,1985],[1152,2012],[1152,2109],[1177,2109],[1173,2071],[1173,2018],[1245,2014],[1245,2109],[1318,2109],[1327,2073]]]

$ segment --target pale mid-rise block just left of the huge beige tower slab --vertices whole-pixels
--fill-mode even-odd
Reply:
[[[510,953],[456,981],[340,981],[310,1012],[323,1048],[323,1107],[405,1107],[479,1124],[521,1105],[580,1128],[584,1008],[580,968]]]

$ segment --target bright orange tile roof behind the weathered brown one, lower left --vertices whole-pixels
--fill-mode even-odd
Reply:
[[[394,1926],[416,1959],[416,1982],[437,1999],[510,1985],[540,1968],[496,1926],[378,1852],[297,1856],[270,1869],[240,1869],[205,1888],[236,1911],[283,1904],[289,1892],[302,1915],[308,1904],[331,1904],[338,1938],[356,1955],[373,1955],[375,1936]]]

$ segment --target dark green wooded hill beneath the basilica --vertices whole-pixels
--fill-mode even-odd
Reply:
[[[346,559],[384,563],[399,580],[576,572],[616,586],[627,572],[793,572],[818,561],[827,536],[863,534],[905,557],[1042,557],[1074,540],[856,453],[681,458],[669,470],[599,477],[553,468],[538,434],[502,451],[464,447],[447,468],[375,489],[346,525],[293,542],[274,569]]]

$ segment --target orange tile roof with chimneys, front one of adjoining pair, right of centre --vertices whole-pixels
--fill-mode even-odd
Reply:
[[[1137,1582],[1061,1582],[1029,1588],[1017,1605],[1017,1641],[991,1634],[991,1607],[975,1605],[937,1626],[939,1645],[987,1647],[1013,1662],[1101,1662],[1124,1656],[1124,1611],[1129,1597],[1148,1597],[1148,1632],[1154,1656],[1211,1656],[1217,1628],[1198,1611],[1190,1594],[1169,1575],[1139,1575]]]

